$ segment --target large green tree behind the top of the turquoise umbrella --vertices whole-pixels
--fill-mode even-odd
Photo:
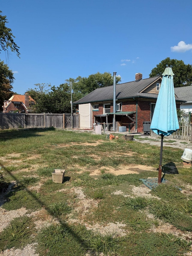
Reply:
[[[170,59],[162,60],[156,68],[153,68],[149,77],[162,75],[166,67],[171,67],[174,75],[174,87],[189,86],[192,84],[192,65],[184,64],[182,60]]]

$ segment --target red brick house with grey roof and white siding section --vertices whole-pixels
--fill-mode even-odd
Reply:
[[[142,132],[143,122],[152,120],[162,77],[142,79],[135,75],[135,81],[116,85],[115,130],[126,126],[127,131]],[[176,96],[176,106],[185,102]],[[73,102],[80,115],[80,128],[93,128],[93,123],[107,124],[113,131],[113,86],[102,87]]]

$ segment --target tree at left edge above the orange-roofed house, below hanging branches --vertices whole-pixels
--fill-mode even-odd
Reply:
[[[11,91],[13,79],[13,72],[0,60],[0,111],[2,111],[3,101],[8,100],[14,94]]]

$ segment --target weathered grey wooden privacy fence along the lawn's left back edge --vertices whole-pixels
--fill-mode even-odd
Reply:
[[[71,114],[0,113],[0,129],[71,127]],[[73,114],[73,128],[79,128],[79,114]]]

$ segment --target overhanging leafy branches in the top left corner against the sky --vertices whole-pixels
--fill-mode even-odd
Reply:
[[[16,52],[19,57],[19,47],[14,42],[15,36],[12,34],[11,29],[6,27],[7,19],[6,16],[1,15],[2,11],[0,11],[0,46],[3,51],[7,51],[10,48],[12,52]],[[0,49],[0,51],[1,51]]]

